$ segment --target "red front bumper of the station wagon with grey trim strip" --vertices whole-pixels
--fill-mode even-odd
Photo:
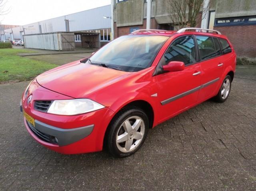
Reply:
[[[102,150],[106,128],[114,116],[112,110],[102,108],[75,116],[48,114],[35,110],[34,101],[70,99],[70,97],[40,87],[36,82],[30,86],[28,96],[30,95],[32,95],[30,102],[22,95],[21,108],[35,119],[34,131],[25,117],[24,124],[37,142],[62,154],[80,154]],[[57,138],[58,143],[44,140],[36,133],[41,133],[41,136],[49,136],[49,140]]]

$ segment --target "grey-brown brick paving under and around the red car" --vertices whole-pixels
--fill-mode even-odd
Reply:
[[[256,81],[235,78],[223,104],[206,101],[150,130],[133,156],[65,156],[37,144],[19,112],[28,82],[0,85],[0,190],[255,190]]]

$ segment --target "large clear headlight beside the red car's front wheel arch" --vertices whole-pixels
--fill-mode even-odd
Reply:
[[[47,113],[58,115],[77,115],[95,111],[105,106],[90,99],[55,100]]]

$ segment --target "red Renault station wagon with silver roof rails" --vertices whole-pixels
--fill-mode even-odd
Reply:
[[[105,147],[126,157],[150,128],[209,98],[224,102],[235,69],[236,53],[218,31],[137,30],[36,77],[20,108],[30,135],[51,150]]]

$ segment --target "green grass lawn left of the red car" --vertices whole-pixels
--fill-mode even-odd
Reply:
[[[0,49],[0,82],[29,80],[58,66],[17,55],[18,53],[28,52],[34,51],[14,48]]]

